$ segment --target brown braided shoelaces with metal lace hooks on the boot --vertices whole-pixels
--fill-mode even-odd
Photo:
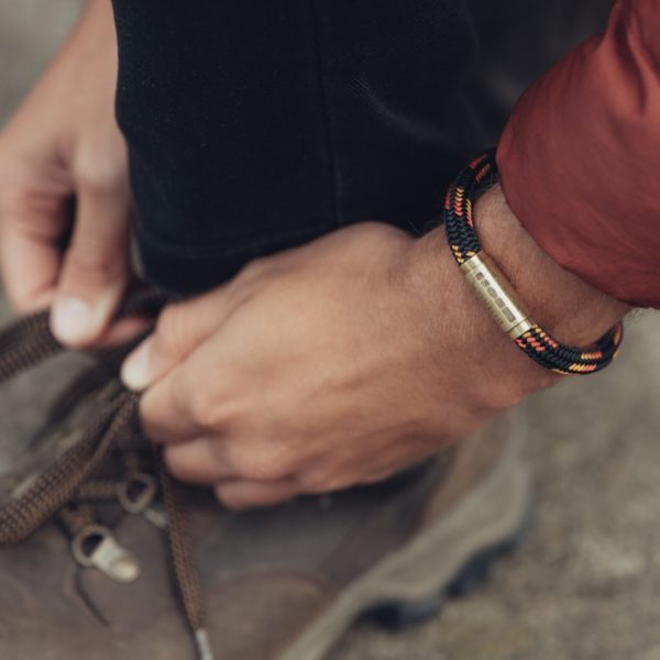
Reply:
[[[166,302],[154,292],[132,295],[121,316],[155,319]],[[165,470],[161,453],[144,442],[138,424],[139,396],[124,389],[118,373],[124,356],[144,337],[117,349],[96,351],[96,365],[82,372],[51,407],[42,435],[75,415],[94,397],[97,409],[82,428],[73,428],[62,451],[29,475],[0,507],[0,548],[20,543],[51,519],[72,538],[76,561],[102,570],[118,582],[132,582],[139,566],[98,521],[98,505],[119,502],[129,514],[143,514],[163,528],[173,586],[193,632],[200,660],[211,660],[205,629],[204,597],[183,493]],[[41,312],[0,332],[0,383],[62,352]],[[70,446],[69,446],[70,444]],[[160,488],[164,514],[150,508]]]

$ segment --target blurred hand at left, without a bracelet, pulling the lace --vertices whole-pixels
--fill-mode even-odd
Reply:
[[[6,288],[19,311],[53,305],[53,330],[69,344],[109,339],[105,331],[129,280],[131,195],[114,121],[116,82],[111,6],[89,0],[74,34],[0,134]],[[124,324],[116,334],[128,331]]]

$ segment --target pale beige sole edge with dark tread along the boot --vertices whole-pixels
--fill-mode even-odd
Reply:
[[[435,616],[449,597],[471,593],[528,527],[531,480],[518,442],[493,471],[406,546],[345,588],[277,660],[321,660],[355,620],[395,629]]]

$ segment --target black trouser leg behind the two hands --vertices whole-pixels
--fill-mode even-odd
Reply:
[[[362,220],[426,231],[506,117],[507,74],[514,89],[528,82],[608,4],[114,0],[117,111],[148,278],[204,290]],[[477,31],[491,48],[481,69]]]

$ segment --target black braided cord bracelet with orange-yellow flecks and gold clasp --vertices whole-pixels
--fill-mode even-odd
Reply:
[[[449,188],[443,211],[444,227],[459,266],[503,331],[541,366],[572,375],[605,369],[620,346],[622,323],[584,349],[559,343],[530,318],[505,276],[482,250],[472,211],[476,196],[496,182],[497,165],[491,151],[472,161]]]

